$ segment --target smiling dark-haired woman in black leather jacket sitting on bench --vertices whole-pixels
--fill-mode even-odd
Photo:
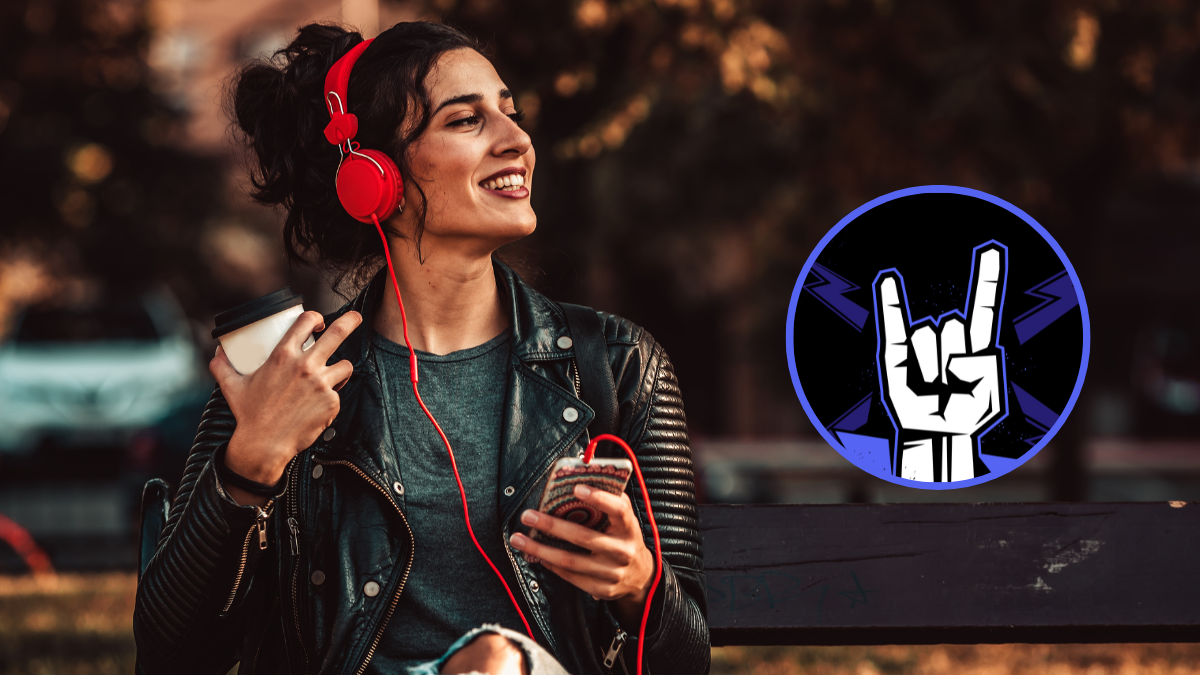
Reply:
[[[324,79],[361,41],[308,25],[282,59],[236,79],[256,197],[286,207],[289,256],[359,280],[378,271],[332,315],[301,315],[252,375],[220,350],[210,363],[217,390],[138,587],[143,669],[624,675],[650,603],[644,670],[707,673],[694,474],[671,363],[640,327],[600,315],[618,435],[637,454],[662,540],[652,597],[636,482],[620,498],[580,494],[608,514],[605,534],[534,510],[550,464],[582,453],[593,418],[562,307],[493,257],[536,225],[534,149],[473,40],[402,23],[361,52],[347,103],[355,142],[386,153],[403,178],[401,209],[380,225],[421,395],[454,444],[494,569],[475,549],[450,459],[409,386],[383,243],[336,197]],[[550,548],[532,528],[589,552]]]

